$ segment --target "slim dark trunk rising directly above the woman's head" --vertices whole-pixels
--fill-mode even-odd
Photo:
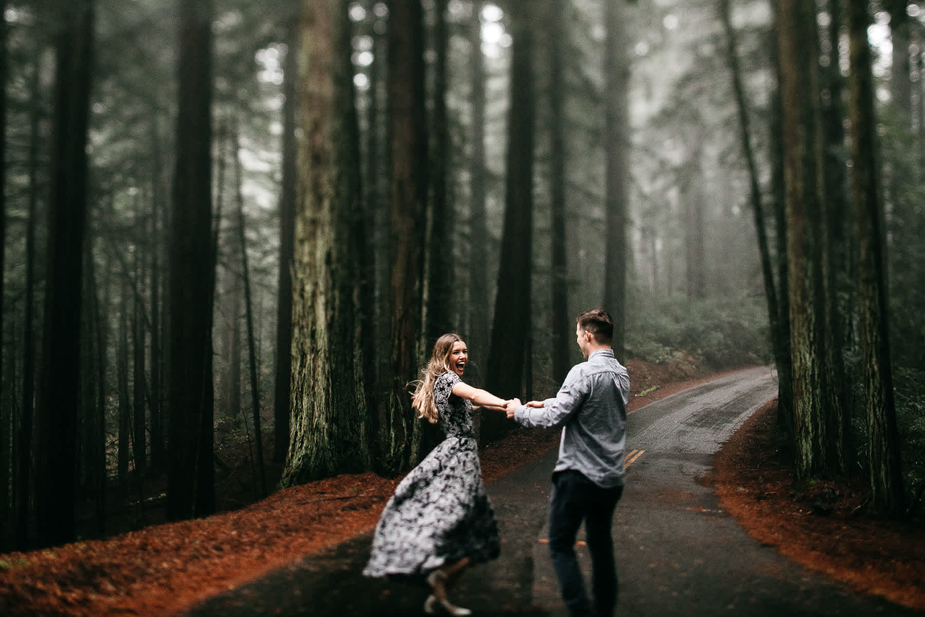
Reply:
[[[427,341],[430,348],[442,334],[455,332],[458,320],[454,311],[453,223],[455,213],[448,194],[450,169],[450,122],[447,118],[447,0],[434,3],[434,100],[431,127],[433,153],[428,179],[431,198],[428,202],[430,233],[427,241]],[[436,445],[436,444],[434,444]]]

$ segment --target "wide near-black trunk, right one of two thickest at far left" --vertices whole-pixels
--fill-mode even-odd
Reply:
[[[167,518],[215,511],[211,0],[179,0],[179,111],[170,243]]]

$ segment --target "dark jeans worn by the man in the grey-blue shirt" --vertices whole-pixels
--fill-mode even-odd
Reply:
[[[575,536],[582,521],[585,522],[587,548],[591,553],[594,608],[598,617],[611,617],[613,614],[618,583],[611,524],[613,509],[621,495],[623,487],[598,487],[585,475],[573,470],[552,475],[549,553],[559,578],[562,599],[573,617],[592,614],[574,551]]]

